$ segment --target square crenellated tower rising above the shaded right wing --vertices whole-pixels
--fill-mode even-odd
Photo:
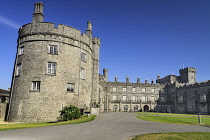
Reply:
[[[196,82],[196,68],[187,67],[179,70],[180,82],[194,84]]]

